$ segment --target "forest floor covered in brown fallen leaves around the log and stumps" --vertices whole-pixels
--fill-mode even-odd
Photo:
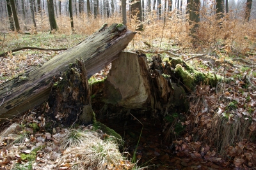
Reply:
[[[38,32],[35,35],[10,33],[4,38],[1,35],[0,53],[24,46],[70,48],[84,38],[86,36],[79,34],[68,36],[45,32]],[[159,41],[156,39],[154,42],[157,44]],[[179,46],[172,46],[172,51],[173,49],[179,50]],[[138,49],[134,49],[134,45],[129,45],[126,50]],[[148,50],[147,46],[142,50]],[[188,52],[176,52],[198,71],[218,74],[230,81],[220,82],[216,88],[198,85],[195,92],[189,94],[190,108],[187,119],[182,121],[173,116],[176,122],[186,127],[186,132],[180,136],[175,133],[172,124],[168,126],[169,130],[162,131],[160,125],[157,122],[150,122],[152,120],[148,120],[147,116],[138,117],[144,127],[136,150],[136,160],[139,160],[137,169],[139,165],[158,170],[256,169],[256,53],[236,52],[230,55],[229,52],[228,46],[218,46],[205,56],[194,59],[191,57],[196,56],[196,53],[188,55]],[[21,50],[0,57],[0,84],[31,67],[44,64],[59,53],[61,51]],[[154,54],[147,54],[148,60],[152,55]],[[168,53],[161,55],[163,58],[173,57]],[[89,81],[105,78],[110,68],[111,66],[105,67]],[[76,154],[63,146],[67,147],[67,141],[63,142],[60,139],[60,136],[65,136],[71,130],[60,128],[50,134],[40,131],[40,128],[37,129],[35,124],[45,122],[43,117],[36,115],[40,109],[31,108],[24,116],[2,125],[0,169],[79,169],[78,159],[74,156]],[[124,137],[124,145],[127,148],[125,152],[132,155],[140,137],[141,124],[137,120],[119,120],[119,123],[115,124],[111,122],[115,121],[111,118],[105,121],[109,127]],[[3,131],[6,128],[8,131]],[[86,131],[93,129],[91,126],[82,128]],[[228,128],[230,132],[227,132]],[[217,129],[218,132],[212,132],[212,129]],[[214,137],[216,133],[220,134],[218,138]],[[97,131],[96,136],[99,138],[104,138],[104,135]],[[207,135],[209,138],[212,137],[212,141]],[[118,164],[119,169],[132,169],[130,161],[120,160]],[[116,169],[118,168],[116,166]],[[110,165],[109,169],[114,167]]]

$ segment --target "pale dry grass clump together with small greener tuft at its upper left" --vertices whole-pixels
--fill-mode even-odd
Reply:
[[[105,170],[133,167],[131,162],[125,160],[119,152],[115,140],[100,139],[97,132],[71,129],[64,136],[61,148],[67,148],[61,157],[61,162],[76,160],[76,168],[79,169]]]

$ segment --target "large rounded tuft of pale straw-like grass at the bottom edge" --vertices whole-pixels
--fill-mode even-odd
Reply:
[[[124,161],[114,141],[97,138],[92,132],[83,133],[83,142],[67,148],[63,155],[77,157],[76,166],[82,169],[114,169],[122,167]]]

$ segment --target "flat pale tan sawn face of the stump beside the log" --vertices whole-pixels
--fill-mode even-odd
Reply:
[[[105,103],[132,109],[150,107],[154,93],[146,57],[120,53],[112,62],[103,91]]]

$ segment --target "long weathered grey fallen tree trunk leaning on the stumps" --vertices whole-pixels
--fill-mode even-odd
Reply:
[[[7,81],[0,86],[0,117],[12,118],[19,113],[42,104],[51,90],[54,76],[68,69],[76,59],[84,60],[88,78],[118,57],[136,32],[122,24],[107,28],[104,24],[99,31],[84,39],[79,45],[57,55],[30,73]]]

